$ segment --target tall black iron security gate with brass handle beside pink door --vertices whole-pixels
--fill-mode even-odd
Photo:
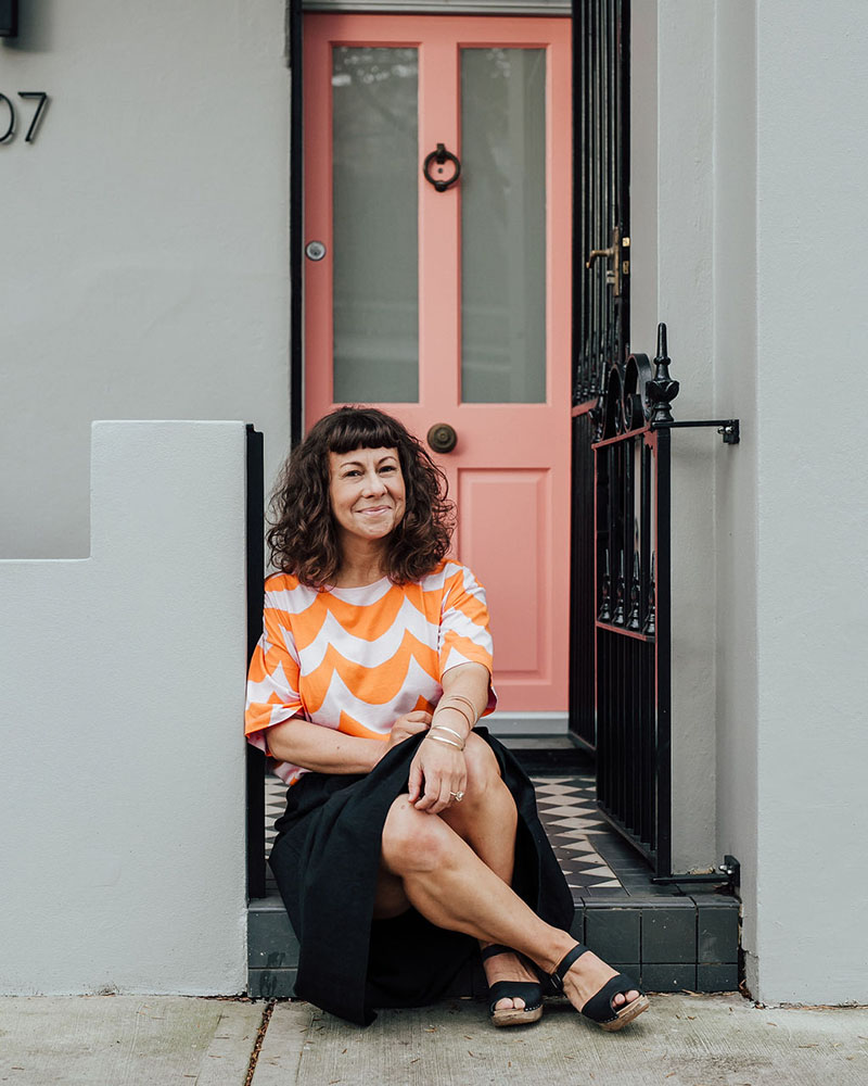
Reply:
[[[629,0],[573,2],[573,513],[570,727],[597,747],[593,415],[629,328]],[[589,267],[586,265],[589,264]]]

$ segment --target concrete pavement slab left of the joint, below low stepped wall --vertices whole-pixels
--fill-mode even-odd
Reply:
[[[0,1083],[243,1086],[265,1005],[184,996],[0,999]]]

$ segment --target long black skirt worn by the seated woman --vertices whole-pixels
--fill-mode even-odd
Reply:
[[[550,924],[569,930],[573,899],[536,811],[534,786],[487,729],[519,811],[512,886]],[[295,993],[359,1025],[375,1007],[423,1007],[439,999],[478,954],[475,939],[437,927],[414,909],[373,920],[388,809],[408,791],[422,735],[388,752],[370,773],[306,773],[286,794],[270,864],[301,943]]]

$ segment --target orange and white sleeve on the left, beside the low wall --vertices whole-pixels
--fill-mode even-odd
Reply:
[[[304,711],[298,694],[298,654],[288,618],[266,593],[263,635],[251,660],[244,712],[244,734],[266,752],[266,729]]]

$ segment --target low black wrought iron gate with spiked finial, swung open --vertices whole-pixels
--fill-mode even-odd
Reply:
[[[669,430],[665,329],[652,374],[615,359],[592,442],[597,801],[653,864],[672,873]]]

